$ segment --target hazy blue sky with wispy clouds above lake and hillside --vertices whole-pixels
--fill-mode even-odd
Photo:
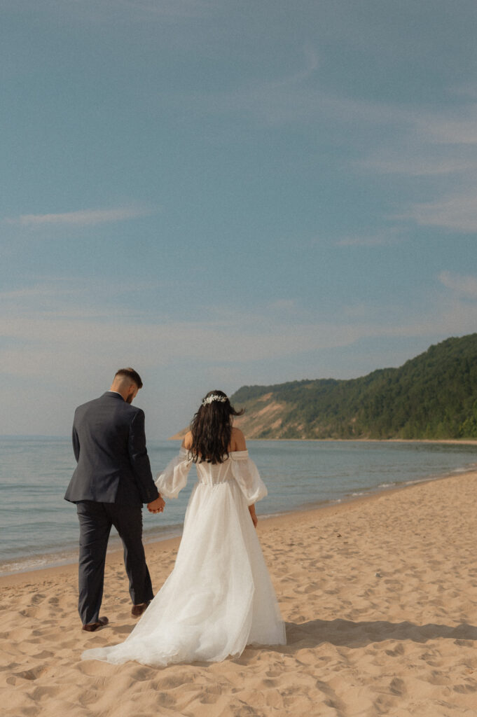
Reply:
[[[477,5],[1,0],[0,435],[477,327]]]

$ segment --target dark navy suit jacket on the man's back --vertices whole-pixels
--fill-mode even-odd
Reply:
[[[142,505],[159,493],[146,450],[144,412],[106,391],[75,411],[72,431],[77,467],[65,500]]]

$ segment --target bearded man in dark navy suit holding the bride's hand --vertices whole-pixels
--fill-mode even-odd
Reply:
[[[142,507],[147,503],[148,511],[161,513],[164,500],[151,474],[144,413],[131,405],[142,385],[134,369],[120,369],[110,391],[75,412],[77,467],[65,500],[76,503],[80,521],[78,612],[88,632],[108,624],[99,612],[111,526],[123,541],[133,617],[154,597],[142,542]]]

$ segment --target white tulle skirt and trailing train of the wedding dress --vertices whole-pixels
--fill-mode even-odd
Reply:
[[[285,627],[247,503],[235,480],[197,483],[164,586],[124,642],[82,659],[217,662],[250,644],[283,645]]]

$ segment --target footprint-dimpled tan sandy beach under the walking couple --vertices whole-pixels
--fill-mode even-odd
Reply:
[[[477,473],[259,523],[288,645],[223,663],[80,660],[133,626],[121,554],[80,630],[77,568],[0,578],[5,717],[477,715]],[[154,588],[179,539],[146,546]]]

